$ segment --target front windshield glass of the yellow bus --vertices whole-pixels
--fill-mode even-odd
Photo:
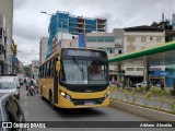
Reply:
[[[65,84],[107,84],[107,61],[65,59],[60,71]]]

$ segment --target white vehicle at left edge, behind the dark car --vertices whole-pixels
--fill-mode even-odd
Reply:
[[[1,76],[0,93],[13,93],[20,99],[20,86],[18,86],[16,79],[14,76]]]

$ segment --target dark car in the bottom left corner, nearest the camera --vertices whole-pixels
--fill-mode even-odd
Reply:
[[[12,94],[0,93],[0,120],[5,122],[25,122],[24,112]],[[24,128],[1,128],[0,131],[27,131]]]

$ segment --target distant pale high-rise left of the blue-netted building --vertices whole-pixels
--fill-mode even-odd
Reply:
[[[42,37],[39,43],[39,63],[43,63],[46,59],[48,49],[48,37]]]

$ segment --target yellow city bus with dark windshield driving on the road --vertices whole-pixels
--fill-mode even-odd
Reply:
[[[61,48],[39,66],[39,93],[54,108],[108,106],[108,58],[102,50]]]

